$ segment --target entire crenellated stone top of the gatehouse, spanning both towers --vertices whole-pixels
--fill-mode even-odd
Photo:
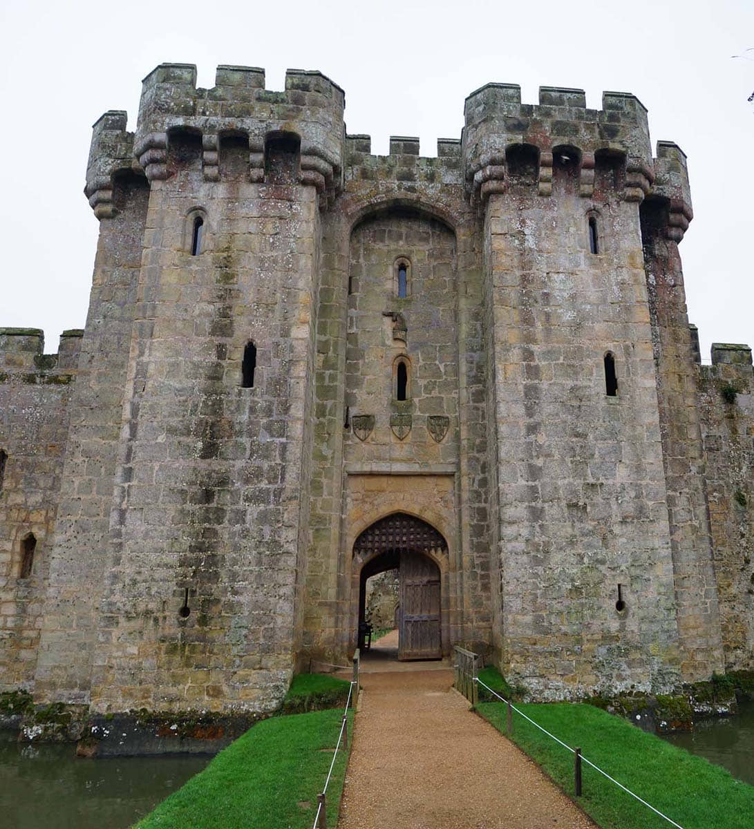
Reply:
[[[691,200],[685,156],[660,142],[652,158],[647,110],[635,95],[605,92],[601,109],[587,109],[584,90],[542,86],[538,104],[522,104],[521,87],[490,83],[465,100],[465,128],[459,139],[442,138],[437,159],[422,159],[419,139],[392,136],[390,154],[371,155],[368,136],[346,136],[343,90],[319,71],[289,69],[285,90],[265,88],[265,70],[219,65],[212,89],[197,87],[192,64],[163,63],[143,81],[136,133],[125,130],[125,113],[111,111],[96,122],[86,193],[98,216],[112,215],[112,177],[124,169],[144,170],[150,181],[168,177],[171,135],[189,130],[202,138],[204,175],[219,177],[223,135],[246,135],[251,181],[264,180],[265,141],[275,133],[296,133],[301,146],[301,181],[315,183],[332,198],[348,177],[369,179],[372,168],[401,182],[464,183],[472,202],[506,186],[507,153],[528,145],[537,152],[539,194],[552,191],[553,153],[576,150],[581,195],[591,196],[600,153],[623,158],[625,198],[653,195],[670,206],[671,238],[680,239],[690,221]],[[571,153],[569,153],[570,155]]]

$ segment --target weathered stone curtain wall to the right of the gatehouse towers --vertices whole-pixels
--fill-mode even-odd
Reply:
[[[698,366],[706,483],[727,671],[754,668],[754,382],[748,346]]]

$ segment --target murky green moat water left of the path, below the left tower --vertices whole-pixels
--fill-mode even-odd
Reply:
[[[81,759],[71,744],[16,736],[0,731],[0,829],[128,829],[211,759]]]

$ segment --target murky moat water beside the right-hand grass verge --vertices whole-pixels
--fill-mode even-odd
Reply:
[[[733,777],[754,785],[754,702],[739,705],[735,716],[702,720],[691,732],[663,736],[680,749],[705,757],[727,768]]]

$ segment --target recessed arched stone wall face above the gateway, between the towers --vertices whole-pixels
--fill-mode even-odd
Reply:
[[[396,296],[396,262],[409,266],[409,295]],[[351,239],[346,405],[351,418],[374,418],[366,439],[346,433],[344,462],[458,462],[458,332],[455,237],[438,221],[373,219]],[[394,322],[385,312],[400,313]],[[406,357],[407,400],[396,400],[396,361]],[[429,418],[444,434],[431,434]],[[396,426],[397,419],[397,426]],[[353,421],[354,429],[357,421]],[[402,437],[398,429],[407,429]],[[440,438],[438,442],[437,438]]]

